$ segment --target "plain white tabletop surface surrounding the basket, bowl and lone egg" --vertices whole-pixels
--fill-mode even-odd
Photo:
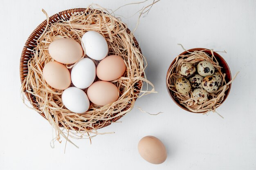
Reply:
[[[65,9],[97,3],[108,9],[137,0],[1,0],[0,1],[0,170],[256,170],[256,1],[161,0],[142,18],[135,36],[148,67],[147,78],[158,94],[137,100],[137,108],[88,140],[65,140],[50,147],[49,123],[20,99],[19,60],[30,33],[45,20],[41,9],[53,15]],[[150,4],[116,11],[133,29],[138,15]],[[165,77],[169,64],[183,50],[204,47],[220,53],[231,73],[240,71],[229,97],[216,113],[193,114],[169,97]],[[167,160],[150,164],[139,156],[138,141],[154,135],[168,150]]]

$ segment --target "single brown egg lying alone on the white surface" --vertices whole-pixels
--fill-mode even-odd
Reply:
[[[163,163],[167,158],[164,144],[153,136],[143,137],[138,144],[140,156],[153,164]]]

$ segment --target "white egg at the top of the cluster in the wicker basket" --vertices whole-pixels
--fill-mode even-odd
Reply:
[[[108,43],[101,33],[88,31],[82,37],[85,54],[94,59],[102,60],[108,54]]]

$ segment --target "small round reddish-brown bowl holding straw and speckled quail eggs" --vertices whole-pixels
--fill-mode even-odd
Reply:
[[[204,52],[206,52],[209,56],[211,56],[211,50],[209,49],[204,49],[204,48],[195,48],[195,49],[190,49],[188,50],[189,52],[193,52],[193,51],[200,51],[200,50],[206,50]],[[181,53],[180,55],[187,55],[189,54],[187,51],[184,51],[183,53]],[[230,69],[229,69],[229,66],[227,65],[227,62],[216,52],[213,52],[214,56],[216,57],[216,60],[219,62],[219,65],[222,67],[221,71],[222,73],[226,73],[226,77],[225,77],[225,80],[226,82],[229,82],[231,81],[231,73],[230,73]],[[173,97],[173,92],[171,92],[171,90],[168,88],[168,84],[167,84],[167,79],[168,79],[168,72],[171,68],[171,66],[175,63],[175,60],[173,60],[173,62],[171,63],[171,65],[169,66],[168,68],[168,71],[167,71],[167,75],[166,75],[166,87],[167,87],[167,91],[169,93],[169,95],[171,96],[171,98],[173,99],[173,101],[178,105],[180,106],[180,108],[184,109],[184,110],[187,110],[189,112],[192,112],[190,111],[189,109],[187,109],[186,107],[184,107],[182,104],[180,104],[180,102],[176,99],[174,99]],[[227,96],[229,95],[229,91],[231,89],[231,84],[229,85],[229,89],[225,92],[225,96],[224,96],[224,99],[222,101],[222,103],[227,99]],[[222,104],[221,103],[221,104]],[[205,113],[205,112],[192,112],[192,113]]]

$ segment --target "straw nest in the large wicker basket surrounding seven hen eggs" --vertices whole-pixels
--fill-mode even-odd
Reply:
[[[108,126],[129,112],[138,97],[154,92],[154,87],[151,91],[141,90],[143,82],[146,86],[148,84],[153,86],[153,84],[144,75],[146,60],[126,24],[102,8],[88,7],[84,10],[61,12],[61,14],[65,13],[70,16],[56,17],[58,20],[47,17],[47,24],[31,51],[31,58],[27,62],[27,75],[22,81],[22,93],[29,94],[28,101],[34,109],[41,115],[45,115],[49,123],[54,126],[57,140],[60,139],[60,134],[64,135],[63,129],[59,127],[64,127],[68,132],[70,130],[80,132],[81,135],[74,136],[77,138],[89,133],[90,137],[93,137],[98,134],[97,129]],[[86,31],[101,33],[108,42],[108,55],[121,56],[126,62],[127,69],[122,77],[112,81],[119,88],[119,99],[116,102],[106,106],[91,103],[86,113],[76,114],[63,106],[61,100],[63,91],[56,90],[45,82],[43,67],[46,63],[53,61],[48,52],[51,42],[60,38],[72,38],[81,44],[81,38]],[[84,54],[83,57],[87,56]],[[94,62],[96,65],[99,63]],[[71,70],[73,65],[66,66]]]

